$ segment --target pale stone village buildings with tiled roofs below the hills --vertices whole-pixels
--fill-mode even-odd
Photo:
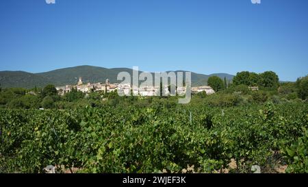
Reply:
[[[56,87],[57,92],[59,95],[64,95],[67,92],[71,92],[73,89],[76,89],[77,91],[89,93],[89,92],[114,92],[117,90],[117,92],[121,92],[124,95],[128,95],[129,92],[133,92],[133,95],[140,95],[144,97],[151,97],[151,96],[158,96],[160,94],[159,87],[156,86],[146,86],[142,88],[132,88],[133,86],[129,84],[118,84],[118,83],[110,83],[109,79],[106,79],[105,83],[93,83],[91,84],[88,82],[87,84],[84,84],[82,81],[82,77],[79,77],[79,81],[77,85],[66,85],[66,86],[59,86]],[[176,92],[178,95],[185,95],[185,87],[177,87]],[[203,92],[205,91],[207,95],[214,94],[215,91],[211,86],[198,86],[198,87],[192,87],[191,90],[193,93]],[[164,94],[168,95],[169,90],[168,86],[165,85],[163,88]]]

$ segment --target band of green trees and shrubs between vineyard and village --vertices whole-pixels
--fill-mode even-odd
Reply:
[[[251,73],[243,71],[237,73],[233,82],[227,78],[212,76],[207,81],[214,88],[215,95],[206,95],[205,92],[192,95],[194,103],[205,103],[214,106],[230,106],[246,103],[264,103],[272,99],[274,103],[292,101],[294,99],[308,99],[308,76],[300,77],[296,82],[279,82],[279,77],[272,71],[264,73]],[[258,86],[259,90],[252,91],[249,86]],[[169,86],[170,90],[170,86]],[[162,92],[162,90],[161,90]],[[90,92],[85,94],[73,88],[63,96],[57,94],[53,85],[44,88],[3,88],[0,86],[0,108],[46,108],[68,109],[79,108],[86,105],[103,107],[105,105],[136,105],[146,107],[149,105],[176,105],[177,97],[119,97],[117,92]]]

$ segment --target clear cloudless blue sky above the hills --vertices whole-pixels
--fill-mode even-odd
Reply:
[[[196,73],[308,74],[308,1],[7,0],[0,71],[82,64]]]

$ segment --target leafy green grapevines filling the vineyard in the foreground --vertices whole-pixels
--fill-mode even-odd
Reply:
[[[308,173],[307,127],[307,103],[2,109],[0,173]]]

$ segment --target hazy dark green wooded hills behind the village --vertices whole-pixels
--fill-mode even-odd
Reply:
[[[102,68],[97,66],[75,66],[70,68],[60,68],[44,73],[27,73],[24,71],[0,71],[0,84],[2,88],[38,88],[47,84],[55,86],[64,86],[66,84],[77,84],[78,77],[82,77],[83,82],[119,82],[116,80],[118,73],[126,71],[131,73],[131,68]],[[184,73],[185,74],[185,73]],[[233,75],[227,73],[215,73],[211,75],[203,75],[192,72],[192,85],[199,86],[207,84],[210,76],[218,76],[227,80],[233,79]]]

